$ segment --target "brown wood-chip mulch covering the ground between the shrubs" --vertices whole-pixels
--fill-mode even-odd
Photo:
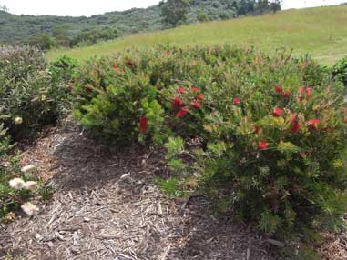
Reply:
[[[70,125],[47,131],[22,163],[37,165],[56,193],[38,215],[0,225],[0,259],[274,259],[247,226],[214,217],[206,198],[192,197],[183,212],[183,201],[166,199],[153,184],[168,175],[159,152],[106,148]]]

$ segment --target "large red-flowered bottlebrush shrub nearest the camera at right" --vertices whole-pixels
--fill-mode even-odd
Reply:
[[[221,62],[194,155],[221,208],[284,237],[341,225],[347,205],[343,87],[307,66],[283,55]]]

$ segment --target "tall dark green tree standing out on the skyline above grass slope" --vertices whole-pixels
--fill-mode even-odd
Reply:
[[[159,4],[161,16],[166,25],[176,27],[180,22],[187,20],[189,12],[189,0],[166,0]]]

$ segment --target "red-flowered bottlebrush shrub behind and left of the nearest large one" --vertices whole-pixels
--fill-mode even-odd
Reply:
[[[210,111],[203,90],[218,73],[217,52],[241,55],[240,49],[217,49],[159,46],[89,61],[75,77],[74,114],[108,140],[161,144],[173,132],[200,135]]]

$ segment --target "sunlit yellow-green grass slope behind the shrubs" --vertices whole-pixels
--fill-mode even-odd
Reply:
[[[148,34],[129,35],[98,45],[56,49],[49,60],[69,55],[85,60],[112,55],[131,47],[156,44],[254,45],[269,54],[278,48],[293,49],[295,55],[310,53],[322,64],[332,65],[347,55],[347,5],[287,10],[281,13],[244,17],[231,21],[186,25]]]

